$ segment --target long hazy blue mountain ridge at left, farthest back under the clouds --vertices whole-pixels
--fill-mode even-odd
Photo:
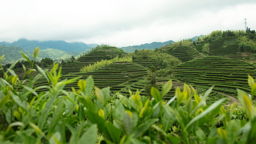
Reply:
[[[34,48],[38,47],[40,50],[45,50],[47,48],[58,49],[62,51],[83,51],[85,49],[90,49],[94,47],[96,44],[87,45],[83,42],[73,42],[68,43],[62,40],[58,41],[37,41],[37,40],[27,40],[27,39],[19,39],[15,42],[0,42],[0,45],[6,46],[16,46],[24,48],[28,52],[32,52]]]

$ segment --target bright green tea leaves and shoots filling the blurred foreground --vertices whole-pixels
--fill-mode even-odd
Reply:
[[[34,58],[38,54],[34,52]],[[255,107],[239,89],[244,108],[233,104],[224,109],[223,99],[206,105],[213,87],[198,96],[185,84],[183,91],[177,88],[175,96],[165,102],[162,97],[172,87],[168,81],[161,94],[151,88],[151,99],[141,96],[139,90],[130,91],[127,98],[110,96],[109,87],[94,87],[91,77],[59,81],[58,64],[49,72],[37,66],[39,74],[25,85],[12,70],[14,66],[0,81],[1,143],[255,143]],[[32,71],[36,70],[26,74]],[[39,77],[49,85],[33,89]],[[79,90],[63,90],[74,82]],[[250,76],[248,83],[255,95],[256,83]],[[49,91],[36,93],[40,88]]]

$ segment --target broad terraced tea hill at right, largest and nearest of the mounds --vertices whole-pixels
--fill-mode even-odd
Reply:
[[[256,78],[256,66],[242,60],[205,57],[191,60],[171,68],[174,78],[193,86],[236,96],[236,88],[250,92],[248,74]]]

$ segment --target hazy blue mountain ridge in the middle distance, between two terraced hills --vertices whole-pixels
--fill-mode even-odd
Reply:
[[[142,50],[142,49],[156,49],[156,48],[160,48],[164,45],[168,45],[170,43],[173,43],[174,41],[169,40],[167,42],[152,42],[152,43],[145,43],[142,45],[133,45],[133,46],[128,46],[128,47],[122,47],[120,49],[124,50],[127,53],[131,53],[134,52],[135,50]]]

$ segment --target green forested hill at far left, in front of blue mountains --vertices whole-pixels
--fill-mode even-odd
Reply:
[[[22,57],[20,52],[25,53],[28,58],[33,59],[33,54],[24,50],[21,47],[15,47],[15,46],[5,46],[0,45],[0,55],[4,54],[3,63],[13,63],[17,60],[25,60],[25,58]],[[36,58],[36,60],[40,61],[42,58],[39,56]]]

